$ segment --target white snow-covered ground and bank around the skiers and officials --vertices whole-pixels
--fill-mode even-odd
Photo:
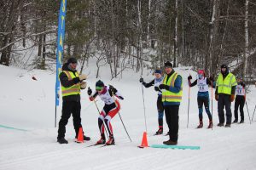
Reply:
[[[107,68],[106,68],[107,69]],[[187,128],[188,83],[187,77],[195,72],[188,68],[176,69],[183,76],[183,102],[180,106],[179,145],[199,145],[201,150],[139,149],[145,131],[142,86],[139,74],[125,71],[123,79],[110,81],[108,71],[101,69],[101,80],[112,84],[124,95],[120,101],[120,114],[130,133],[115,116],[112,120],[116,145],[109,147],[86,147],[99,139],[97,110],[90,102],[86,90],[82,93],[82,124],[84,132],[91,137],[89,142],[73,142],[73,120],[67,125],[66,138],[69,144],[56,142],[55,125],[55,74],[49,71],[26,71],[0,65],[0,170],[34,169],[256,169],[256,122],[249,123],[247,110],[244,124],[232,124],[231,128],[217,127],[217,103],[213,101],[212,129],[207,129],[204,112],[204,127],[198,124],[196,103],[197,88],[191,88],[189,127]],[[95,69],[86,68],[90,88],[95,89]],[[146,82],[154,77],[146,72]],[[36,77],[37,81],[32,80]],[[87,88],[86,88],[87,89]],[[250,87],[247,104],[252,116],[256,104],[255,87]],[[156,93],[154,88],[144,88],[148,144],[162,144],[168,137],[153,136],[157,130]],[[96,104],[102,108],[102,101]],[[234,103],[232,103],[232,112]],[[61,116],[61,105],[57,108],[57,122]],[[256,116],[254,117],[256,120]],[[12,128],[9,128],[12,127]],[[166,122],[164,123],[167,132]]]

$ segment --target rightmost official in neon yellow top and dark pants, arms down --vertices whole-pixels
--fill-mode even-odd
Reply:
[[[224,108],[226,111],[225,127],[231,126],[231,102],[235,99],[236,85],[236,77],[229,71],[229,67],[227,65],[221,65],[215,91],[215,99],[218,101],[218,127],[224,126]]]

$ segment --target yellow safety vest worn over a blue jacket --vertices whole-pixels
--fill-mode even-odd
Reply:
[[[166,82],[167,75],[164,78],[163,84],[174,87],[174,82],[177,78],[178,74],[177,72],[174,72],[172,76],[168,79],[168,82]],[[181,84],[181,90],[175,94],[169,90],[163,90],[162,92],[162,101],[163,102],[181,102],[183,96],[183,82]]]

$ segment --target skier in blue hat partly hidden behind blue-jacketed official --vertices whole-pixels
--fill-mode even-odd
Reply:
[[[145,88],[149,88],[151,86],[154,86],[154,90],[158,92],[158,97],[157,97],[157,111],[158,111],[158,131],[156,131],[155,135],[159,135],[163,133],[163,117],[164,117],[164,105],[162,102],[162,92],[159,89],[159,85],[163,83],[164,77],[162,77],[162,71],[160,69],[155,69],[154,70],[154,80],[151,82],[144,82],[143,77],[140,78],[140,82],[143,83],[143,86]]]

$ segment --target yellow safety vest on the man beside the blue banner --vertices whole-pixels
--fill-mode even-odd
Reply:
[[[75,75],[73,74],[72,71],[62,71],[62,72],[64,72],[67,75],[68,81],[71,81],[75,77],[79,77],[78,71],[76,71]],[[62,93],[62,97],[80,94],[80,84],[79,83],[74,84],[69,88],[65,88],[61,85],[61,93]]]

